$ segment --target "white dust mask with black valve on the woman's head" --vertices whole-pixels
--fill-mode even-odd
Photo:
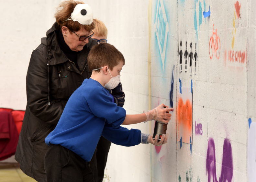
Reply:
[[[78,4],[75,6],[71,16],[66,19],[77,21],[82,25],[91,25],[93,23],[93,10],[88,4]]]

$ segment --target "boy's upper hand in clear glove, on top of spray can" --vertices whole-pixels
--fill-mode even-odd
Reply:
[[[164,108],[166,107],[166,108]],[[147,119],[144,121],[145,123],[147,121],[156,120],[159,123],[168,123],[171,119],[170,111],[173,111],[173,108],[167,108],[168,106],[165,106],[164,104],[161,104],[157,107],[155,107],[152,110],[149,110],[148,112],[143,112],[146,114]]]

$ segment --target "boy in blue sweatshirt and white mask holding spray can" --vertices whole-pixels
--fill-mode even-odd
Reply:
[[[170,111],[164,104],[136,115],[127,115],[124,108],[112,102],[107,89],[120,82],[120,71],[125,64],[123,55],[107,43],[95,45],[87,57],[92,76],[70,96],[56,128],[45,138],[49,145],[44,159],[47,180],[94,181],[89,162],[101,136],[122,146],[139,143],[162,145],[164,135],[141,134],[138,129],[120,125],[157,120],[168,123]],[[164,108],[166,107],[166,108]]]

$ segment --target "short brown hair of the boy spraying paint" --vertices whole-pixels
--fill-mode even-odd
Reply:
[[[107,43],[95,45],[90,50],[87,61],[90,70],[108,66],[112,71],[114,66],[117,66],[120,61],[125,64],[125,58],[122,53],[114,45]],[[99,69],[95,71],[100,72]]]

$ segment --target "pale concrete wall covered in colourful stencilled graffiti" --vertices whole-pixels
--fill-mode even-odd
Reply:
[[[53,24],[60,2],[1,2],[0,107],[25,109],[29,58]],[[95,18],[106,24],[108,43],[126,59],[121,82],[128,114],[160,103],[170,106],[172,80],[174,85],[168,143],[161,147],[112,144],[104,180],[255,180],[256,1],[84,2],[92,6]],[[204,18],[209,7],[211,14]],[[212,36],[215,47],[211,48]],[[186,65],[184,58],[186,42],[188,53],[193,54],[191,75],[190,60]],[[176,134],[180,86],[193,89],[192,141],[182,145]],[[128,128],[153,133],[154,122]],[[207,162],[207,158],[216,162]]]

